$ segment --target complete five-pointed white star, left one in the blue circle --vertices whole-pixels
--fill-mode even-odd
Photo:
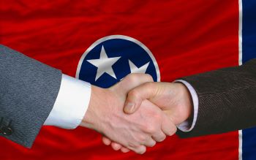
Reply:
[[[116,63],[116,61],[118,61],[119,58],[121,57],[108,58],[107,53],[105,52],[105,48],[102,45],[102,50],[100,51],[99,59],[87,60],[90,64],[98,68],[95,81],[98,80],[99,77],[102,76],[105,72],[108,73],[108,75],[116,78],[112,66]]]

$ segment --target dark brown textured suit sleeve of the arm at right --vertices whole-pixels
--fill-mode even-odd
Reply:
[[[195,128],[180,137],[246,129],[256,126],[256,59],[235,66],[183,77],[197,92]]]

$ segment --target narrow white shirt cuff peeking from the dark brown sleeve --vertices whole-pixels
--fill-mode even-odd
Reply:
[[[190,92],[190,94],[192,96],[192,101],[193,101],[193,106],[194,106],[194,115],[193,115],[192,125],[191,126],[189,125],[191,123],[189,123],[188,120],[177,125],[178,129],[180,129],[182,132],[190,132],[192,129],[194,129],[195,123],[197,121],[197,113],[198,113],[198,96],[197,96],[197,92],[192,87],[192,85],[190,85],[185,80],[175,80],[174,82],[179,82],[179,83],[183,83],[184,85],[186,85],[187,89],[189,90],[189,92]]]

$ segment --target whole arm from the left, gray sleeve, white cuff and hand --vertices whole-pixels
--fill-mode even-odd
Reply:
[[[20,145],[31,147],[43,123],[95,129],[137,153],[176,132],[169,127],[169,118],[151,102],[143,102],[137,114],[122,111],[127,92],[152,81],[148,75],[129,75],[103,89],[61,75],[58,69],[2,45],[0,62],[1,136]],[[78,112],[72,112],[74,107]]]

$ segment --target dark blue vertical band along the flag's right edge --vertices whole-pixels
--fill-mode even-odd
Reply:
[[[244,0],[243,31],[242,31],[242,61],[256,58],[256,0]],[[256,68],[255,68],[256,69]],[[255,104],[256,107],[256,104]],[[256,116],[256,115],[255,115]],[[243,160],[256,159],[256,128],[244,129],[242,140]]]

